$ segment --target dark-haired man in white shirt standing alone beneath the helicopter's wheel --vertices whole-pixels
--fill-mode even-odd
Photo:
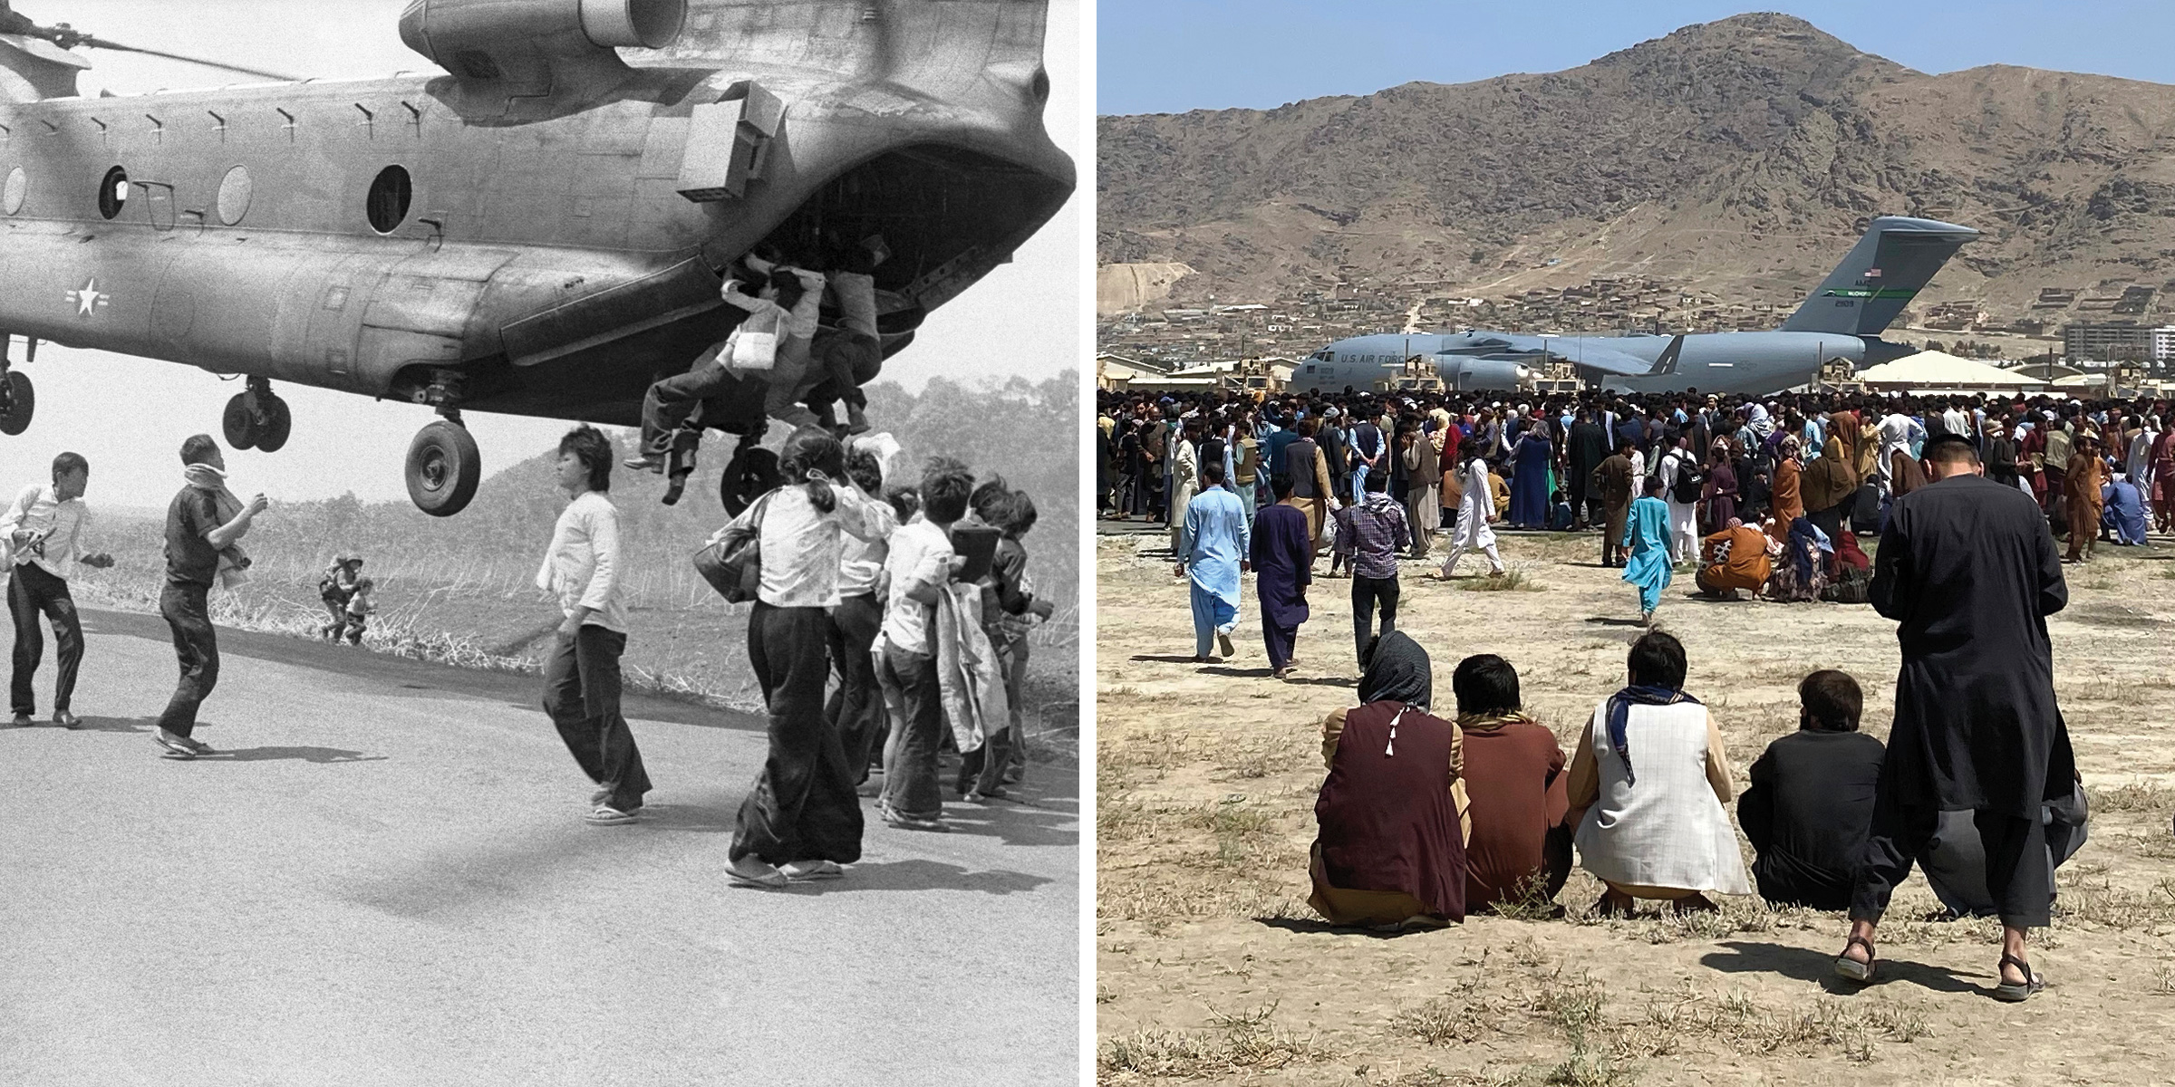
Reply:
[[[594,826],[637,820],[650,776],[642,770],[635,733],[620,715],[620,654],[626,652],[626,607],[620,600],[620,511],[611,489],[611,439],[576,426],[559,439],[559,489],[572,502],[552,526],[537,589],[559,600],[566,622],[544,663],[544,713],[583,774],[598,785],[583,815]]]

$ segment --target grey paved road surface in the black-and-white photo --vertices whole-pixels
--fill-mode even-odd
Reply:
[[[220,630],[185,763],[165,624],[85,620],[89,728],[0,728],[4,1085],[1079,1078],[1072,772],[737,889],[759,720],[629,700],[652,817],[596,828],[531,676]]]

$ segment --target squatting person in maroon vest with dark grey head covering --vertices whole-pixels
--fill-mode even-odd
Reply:
[[[1392,630],[1368,648],[1359,707],[1322,720],[1329,780],[1307,904],[1331,924],[1440,928],[1466,920],[1457,726],[1427,711],[1427,650]]]

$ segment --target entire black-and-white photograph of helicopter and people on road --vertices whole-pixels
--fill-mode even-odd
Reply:
[[[1077,1083],[1077,0],[0,0],[0,1085]]]

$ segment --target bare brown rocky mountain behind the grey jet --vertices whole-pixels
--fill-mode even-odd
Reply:
[[[1514,293],[1609,274],[1788,304],[1884,213],[1986,233],[1918,311],[2084,320],[2034,311],[2042,287],[2092,309],[2175,276],[2175,87],[2005,65],[1929,76],[1775,13],[1568,72],[1101,117],[1096,154],[1101,261],[1192,270],[1105,274],[1105,311],[1155,296],[1127,283],[1235,302],[1340,280]]]

